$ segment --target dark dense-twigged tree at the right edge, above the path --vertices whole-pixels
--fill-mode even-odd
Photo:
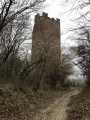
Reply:
[[[78,57],[76,65],[78,65],[83,76],[85,76],[87,86],[90,86],[90,30],[87,28],[79,30],[76,40],[78,45],[71,49]]]

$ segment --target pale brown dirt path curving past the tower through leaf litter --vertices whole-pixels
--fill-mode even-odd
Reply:
[[[40,113],[36,114],[32,120],[66,120],[66,111],[69,109],[67,105],[70,102],[70,97],[78,94],[79,92],[80,91],[75,90],[70,93],[64,94],[60,98],[57,98],[46,109],[43,109],[40,111]]]

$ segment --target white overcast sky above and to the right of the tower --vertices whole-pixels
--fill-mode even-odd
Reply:
[[[66,32],[70,27],[75,26],[75,24],[74,24],[74,22],[72,22],[72,20],[78,14],[75,12],[71,13],[68,10],[77,6],[77,3],[73,0],[70,0],[70,2],[67,4],[64,1],[65,0],[47,0],[47,2],[46,2],[47,7],[45,8],[44,11],[46,13],[48,13],[49,17],[60,19],[62,45],[64,44],[66,46],[72,46],[73,42],[67,40],[67,36],[70,35],[70,33],[66,34]],[[66,11],[68,11],[68,12],[66,12]]]

